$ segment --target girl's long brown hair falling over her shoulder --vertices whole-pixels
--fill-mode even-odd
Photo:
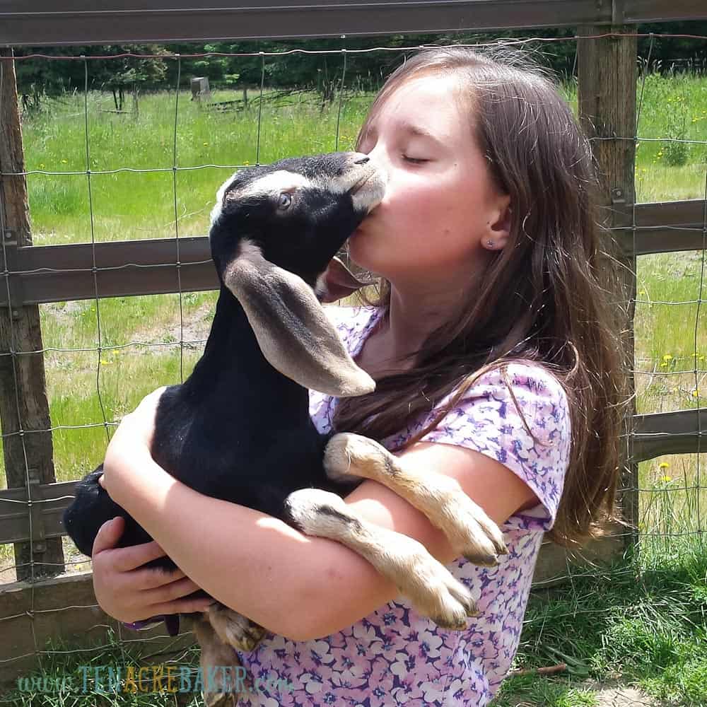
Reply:
[[[414,367],[385,375],[370,395],[339,400],[333,427],[381,440],[453,392],[402,450],[435,428],[480,375],[499,368],[508,385],[508,363],[543,366],[566,392],[572,426],[571,459],[549,537],[580,545],[601,537],[607,520],[622,522],[615,494],[626,403],[610,285],[616,278],[607,277],[612,259],[600,250],[590,144],[554,83],[527,56],[467,47],[424,49],[399,66],[370,107],[357,144],[392,92],[426,75],[460,79],[470,136],[510,194],[510,239],[474,284],[474,296],[431,332]],[[379,279],[377,296],[362,300],[389,307],[390,282]]]

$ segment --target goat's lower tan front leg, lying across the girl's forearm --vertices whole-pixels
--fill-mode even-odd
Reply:
[[[286,510],[302,532],[341,542],[365,557],[409,598],[416,611],[445,629],[464,629],[478,614],[469,590],[415,539],[366,521],[335,493],[293,491]]]

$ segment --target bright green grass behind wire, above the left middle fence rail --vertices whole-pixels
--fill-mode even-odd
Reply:
[[[267,163],[328,152],[337,145],[338,103],[320,111],[315,96],[306,94],[280,107],[265,103],[258,151],[257,107],[211,112],[182,93],[176,111],[176,164],[185,171],[176,177],[175,227],[174,92],[144,96],[137,115],[100,112],[111,102],[107,94],[88,96],[88,169],[168,171],[93,174],[89,204],[83,96],[49,103],[45,112],[23,124],[26,169],[74,174],[28,175],[35,245],[171,238],[177,227],[178,235],[205,235],[216,189],[233,172],[233,165],[252,165],[257,157]],[[369,95],[361,95],[342,107],[340,148],[351,148],[369,102]],[[231,166],[186,169],[199,165]]]

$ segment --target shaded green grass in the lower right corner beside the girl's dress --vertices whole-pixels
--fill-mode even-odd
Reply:
[[[672,538],[670,551],[641,547],[630,562],[534,592],[515,662],[566,662],[563,677],[511,677],[493,707],[596,705],[588,682],[619,679],[665,706],[707,705],[707,548],[697,535]],[[621,703],[623,704],[623,703]]]

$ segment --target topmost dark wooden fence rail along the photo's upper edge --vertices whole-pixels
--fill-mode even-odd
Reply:
[[[139,7],[139,9],[136,9]],[[347,37],[628,25],[707,16],[695,0],[0,0],[0,45]]]

